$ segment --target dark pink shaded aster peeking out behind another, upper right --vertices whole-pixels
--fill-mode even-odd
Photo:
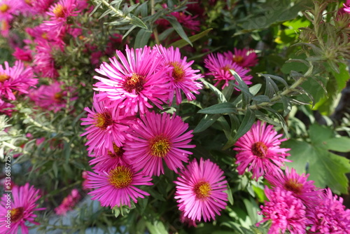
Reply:
[[[258,55],[254,52],[254,50],[247,50],[243,48],[242,50],[238,50],[234,48],[235,53],[231,51],[223,53],[223,55],[228,59],[232,60],[232,62],[237,63],[241,67],[254,67],[258,64]]]

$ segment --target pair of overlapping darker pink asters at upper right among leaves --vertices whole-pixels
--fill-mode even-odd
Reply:
[[[230,81],[235,81],[235,76],[230,70],[235,71],[244,83],[250,85],[253,76],[248,75],[250,71],[248,67],[254,67],[256,64],[258,64],[258,56],[254,50],[245,48],[243,50],[235,48],[235,53],[228,51],[223,54],[210,54],[204,60],[204,66],[209,69],[207,76],[214,76],[213,80],[216,81],[214,85],[221,84],[222,89],[227,87]],[[238,85],[237,81],[235,84]]]

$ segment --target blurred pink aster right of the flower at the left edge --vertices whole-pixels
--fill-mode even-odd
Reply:
[[[48,111],[60,111],[66,108],[67,92],[74,92],[73,88],[66,90],[63,88],[63,82],[57,82],[50,85],[41,85],[35,90],[31,90],[29,93],[29,98],[34,101],[36,106],[40,106]],[[77,99],[77,97],[71,97],[70,101]]]

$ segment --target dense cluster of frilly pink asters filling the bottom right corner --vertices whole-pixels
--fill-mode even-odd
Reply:
[[[342,198],[329,188],[316,188],[307,177],[288,167],[286,174],[267,176],[272,187],[265,188],[269,201],[261,206],[264,217],[257,225],[271,221],[269,234],[350,233],[350,209],[342,205]]]

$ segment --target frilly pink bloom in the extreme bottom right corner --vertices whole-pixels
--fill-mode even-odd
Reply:
[[[343,198],[332,195],[330,188],[318,200],[314,207],[313,216],[310,218],[312,226],[310,231],[315,233],[350,233],[350,209],[346,209]]]

